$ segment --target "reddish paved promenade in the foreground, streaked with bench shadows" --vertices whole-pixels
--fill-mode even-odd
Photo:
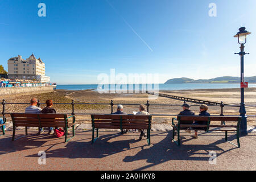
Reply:
[[[224,141],[225,133],[200,133],[192,139],[182,132],[180,147],[171,141],[172,131],[152,132],[151,146],[138,133],[120,135],[100,131],[93,145],[92,131],[76,131],[68,143],[46,132],[12,131],[0,136],[0,169],[2,170],[256,170],[256,133],[241,137],[241,148]],[[230,136],[230,134],[232,134]],[[236,143],[234,133],[229,140]],[[23,137],[22,137],[23,136]],[[22,138],[19,138],[22,137]],[[19,138],[19,139],[18,139]],[[38,164],[38,152],[46,152],[46,165]],[[209,164],[209,152],[217,154]]]

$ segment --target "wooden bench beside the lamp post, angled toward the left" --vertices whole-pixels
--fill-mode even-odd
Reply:
[[[174,120],[177,121],[177,123],[174,123]],[[192,125],[192,124],[183,124],[182,122],[189,122],[193,123],[193,121],[205,121],[207,122],[207,125]],[[211,121],[221,121],[223,125],[210,125]],[[226,125],[225,121],[227,122],[237,122],[236,125]],[[229,117],[229,116],[181,116],[178,115],[177,119],[172,118],[172,140],[177,144],[177,146],[180,146],[180,130],[187,130],[188,127],[196,127],[197,129],[192,130],[204,130],[206,129],[206,132],[209,131],[225,131],[225,141],[228,141],[228,131],[236,131],[236,137],[237,137],[237,145],[233,144],[234,146],[240,147],[240,141],[239,141],[239,127],[240,127],[241,117]],[[200,129],[202,128],[202,129]],[[175,137],[175,131],[177,130],[177,140],[174,139]]]

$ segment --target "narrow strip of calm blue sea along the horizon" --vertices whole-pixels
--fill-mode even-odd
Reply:
[[[150,84],[151,85],[151,84]],[[145,85],[130,85],[130,88],[133,90],[142,90]],[[107,88],[107,86],[105,86]],[[86,90],[86,89],[96,89],[96,91],[105,89],[104,85],[98,84],[88,84],[88,85],[57,85],[56,89],[64,89],[64,90]],[[110,88],[115,88],[115,90],[124,89],[123,85],[109,85]],[[126,86],[129,88],[129,85]],[[147,85],[147,90],[193,90],[193,89],[229,89],[229,88],[240,88],[240,84],[152,84],[149,88]],[[256,84],[249,84],[249,88],[256,88]],[[130,89],[129,89],[130,90]]]

